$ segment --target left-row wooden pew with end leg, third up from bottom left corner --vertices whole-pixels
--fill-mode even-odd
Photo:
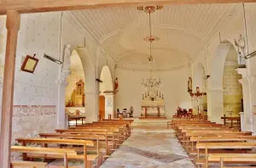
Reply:
[[[86,167],[91,167],[91,161],[96,160],[98,158],[98,155],[87,155],[87,146],[93,147],[95,144],[93,141],[88,140],[77,140],[77,139],[56,139],[56,138],[17,138],[16,139],[18,143],[21,143],[22,146],[26,146],[27,143],[41,143],[44,148],[48,147],[48,144],[69,144],[69,145],[83,145],[83,155],[72,155],[70,158],[72,159],[78,159],[78,160],[84,160],[84,165]],[[55,148],[58,149],[58,148]],[[68,149],[68,148],[63,148]],[[74,150],[75,151],[75,150]],[[23,160],[26,160],[26,154],[23,154]],[[38,156],[32,155],[32,158],[37,158]],[[39,157],[42,157],[39,156]],[[69,156],[67,156],[69,158]],[[44,155],[43,158],[47,158],[47,155]],[[59,156],[55,156],[56,159],[59,158]]]

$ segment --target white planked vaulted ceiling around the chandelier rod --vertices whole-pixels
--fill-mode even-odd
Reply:
[[[154,69],[189,64],[230,19],[235,4],[165,5],[152,14]],[[148,70],[148,14],[137,7],[95,8],[68,12],[79,20],[119,67]]]

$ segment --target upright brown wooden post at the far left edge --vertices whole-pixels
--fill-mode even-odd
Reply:
[[[12,137],[12,117],[15,87],[15,59],[20,14],[15,10],[7,11],[7,41],[3,75],[3,102],[0,134],[0,167],[10,167],[10,145]]]

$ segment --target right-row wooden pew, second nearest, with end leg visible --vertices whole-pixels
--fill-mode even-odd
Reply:
[[[198,154],[196,160],[196,165],[205,165],[208,168],[208,150],[209,149],[252,149],[256,147],[256,143],[196,143],[196,148],[205,150],[205,158],[200,159],[200,155]],[[227,152],[231,153],[231,151]]]

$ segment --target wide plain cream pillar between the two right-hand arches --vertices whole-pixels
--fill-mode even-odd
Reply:
[[[223,124],[221,117],[224,115],[223,89],[209,89],[207,91],[208,120]]]

